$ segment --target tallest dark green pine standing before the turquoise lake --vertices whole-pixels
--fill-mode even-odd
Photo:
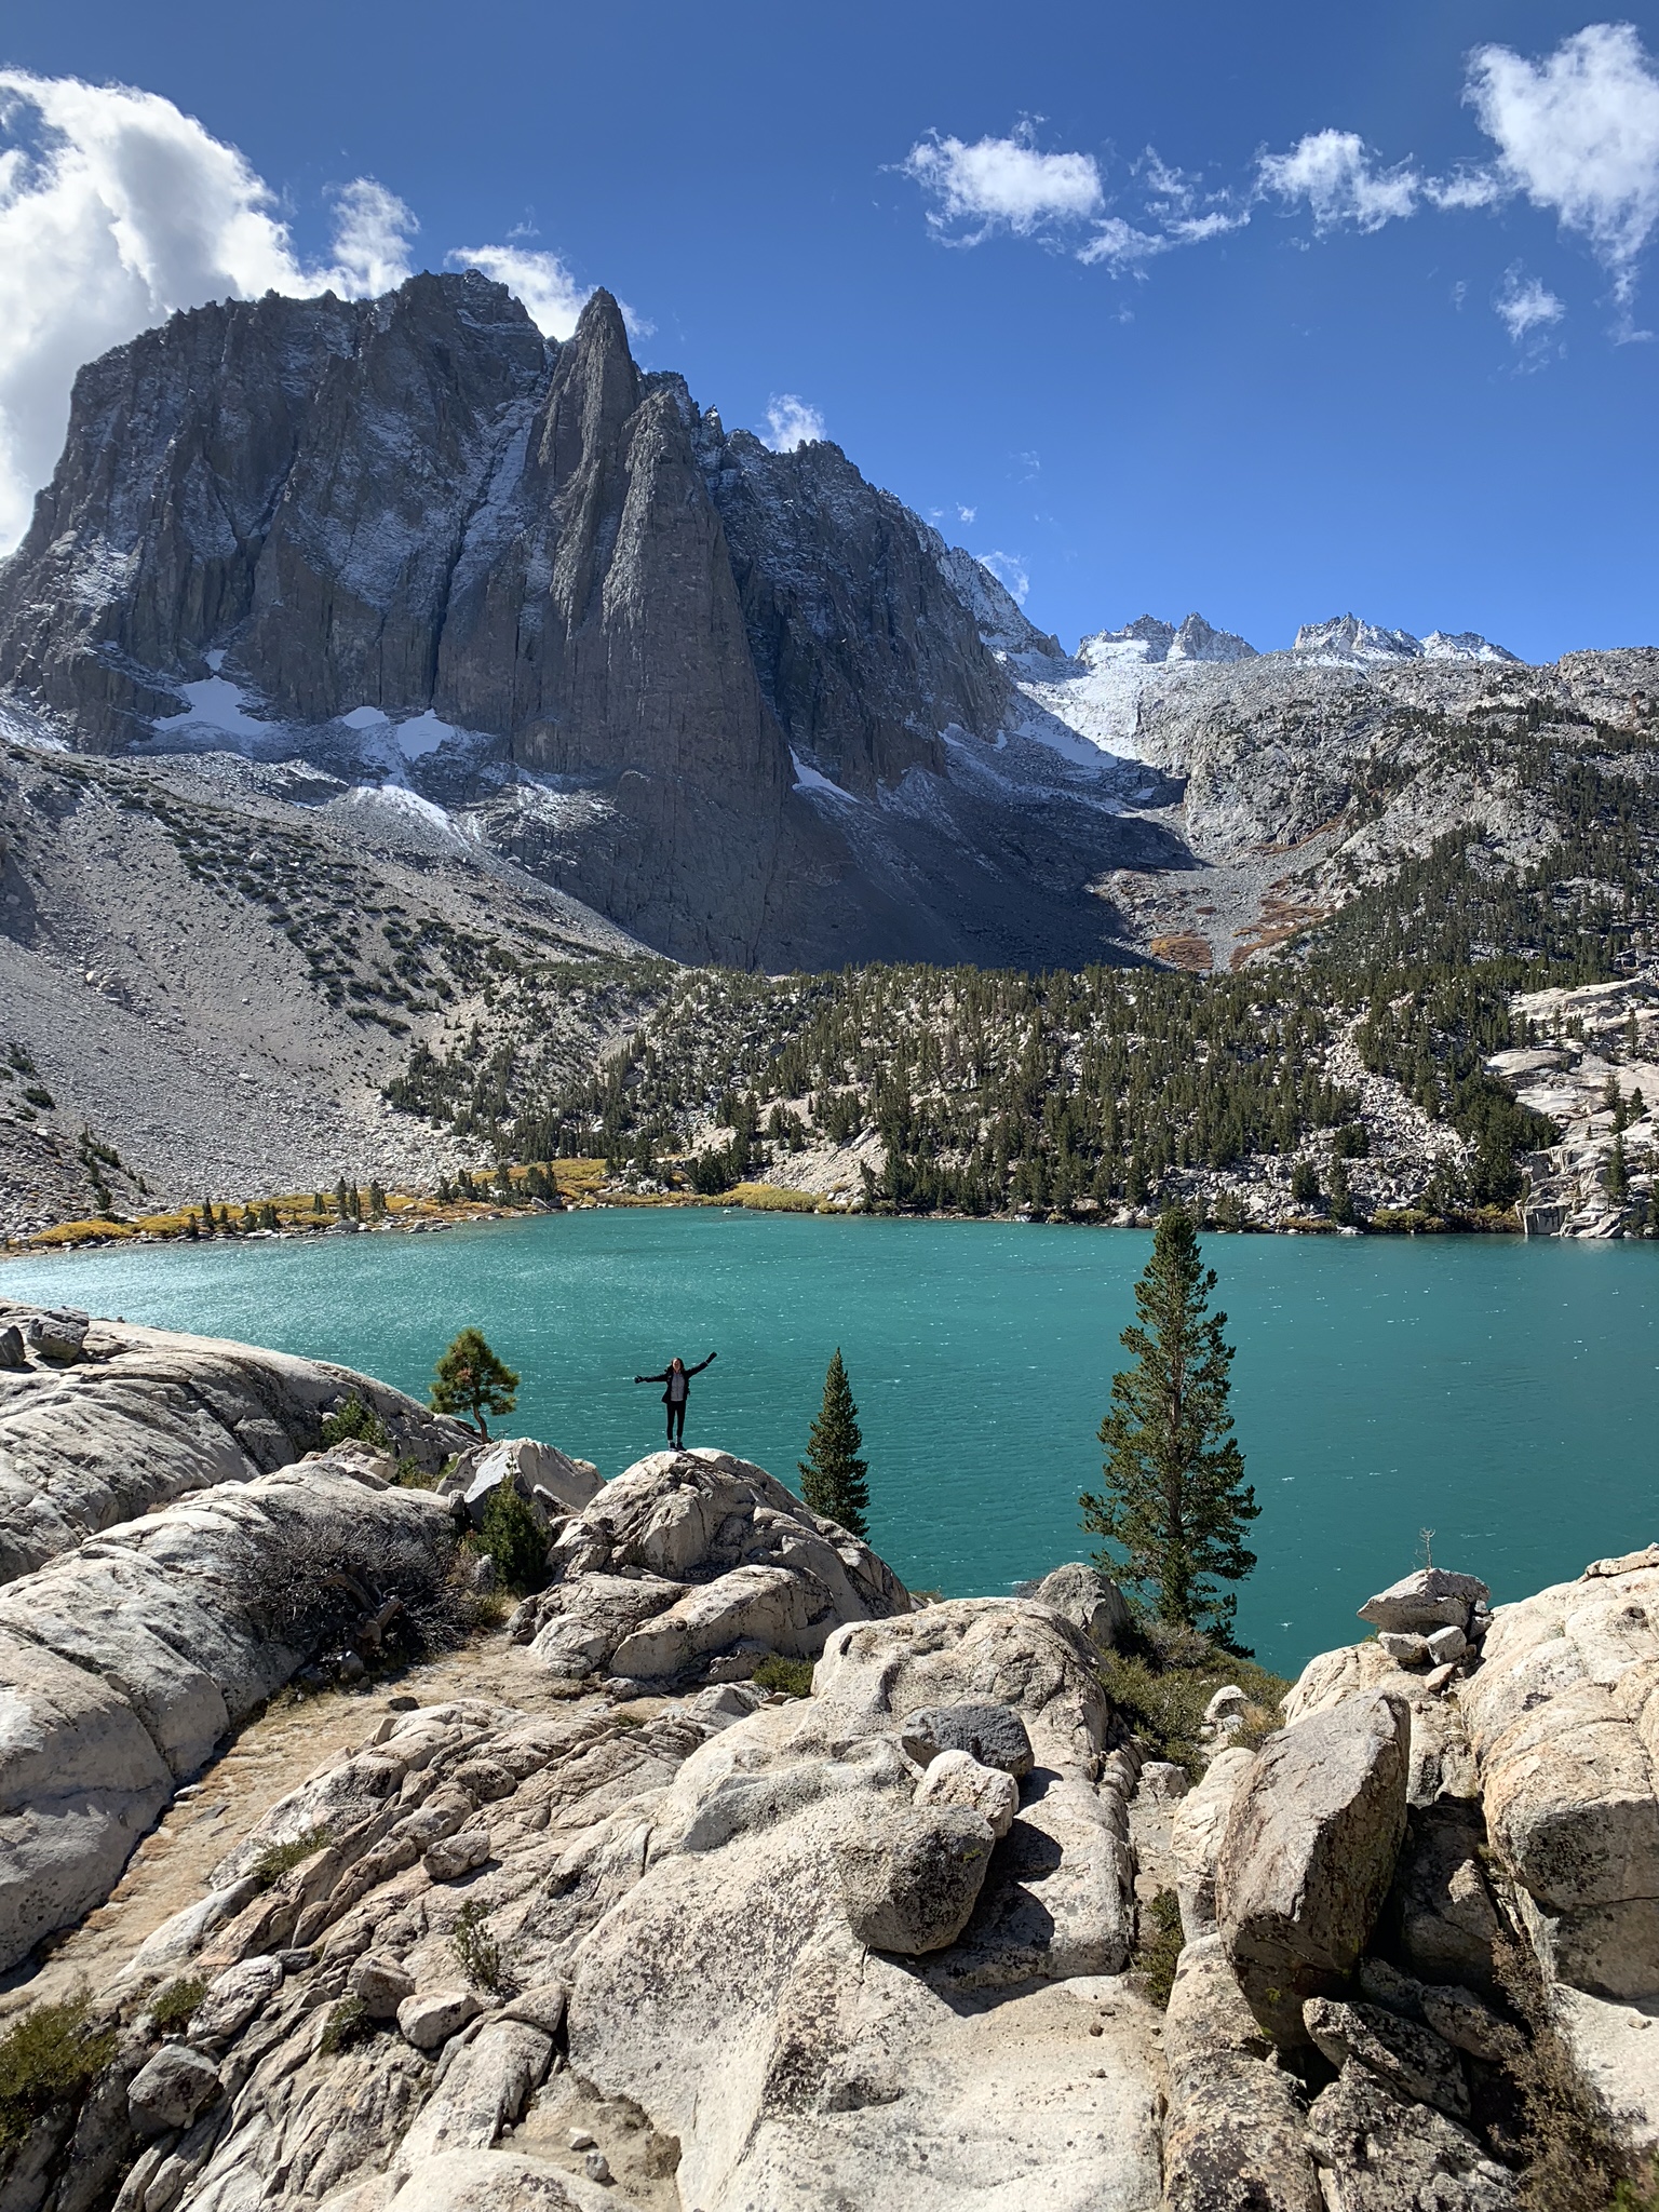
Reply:
[[[1214,1281],[1192,1217],[1159,1214],[1135,1285],[1139,1321],[1121,1336],[1135,1367],[1113,1376],[1099,1425],[1106,1484],[1077,1502],[1084,1528],[1124,1553],[1102,1551],[1102,1566],[1148,1586],[1159,1619],[1225,1637],[1237,1599],[1217,1582],[1243,1582],[1256,1564],[1241,1535],[1261,1506],[1232,1440],[1232,1347],[1221,1336],[1228,1316],[1208,1312]]]

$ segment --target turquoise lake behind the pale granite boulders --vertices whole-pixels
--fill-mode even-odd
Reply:
[[[0,1265],[73,1303],[343,1360],[425,1396],[478,1323],[507,1433],[619,1473],[661,1440],[633,1376],[719,1352],[686,1440],[796,1480],[841,1345],[872,1537],[914,1588],[1002,1593],[1084,1555],[1077,1491],[1150,1237],[980,1221],[593,1210],[440,1237],[104,1250]],[[1294,1672],[1418,1564],[1495,1599],[1659,1540],[1659,1250],[1210,1237],[1261,1517],[1239,1635]]]

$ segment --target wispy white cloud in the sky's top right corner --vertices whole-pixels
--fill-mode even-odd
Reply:
[[[1482,46],[1464,97],[1504,181],[1588,239],[1621,301],[1659,228],[1659,73],[1628,22],[1593,22],[1542,62]]]

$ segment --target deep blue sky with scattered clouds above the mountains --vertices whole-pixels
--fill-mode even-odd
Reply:
[[[1551,75],[1586,31],[1577,75]],[[1471,64],[1491,46],[1511,60]],[[1199,608],[1265,648],[1352,608],[1535,659],[1659,641],[1655,55],[1655,9],[1517,0],[27,0],[0,22],[0,66],[139,86],[237,148],[296,268],[338,252],[338,195],[367,177],[418,219],[414,265],[498,248],[608,285],[648,365],[728,427],[794,396],[1022,573],[1066,644]],[[55,113],[13,82],[0,325],[27,321],[9,259],[31,334],[0,407],[22,478],[69,354],[148,319],[122,292],[106,330],[73,265],[108,190],[73,204],[69,248],[31,201],[64,133],[102,128]],[[212,195],[246,201],[184,153],[126,175],[139,230],[168,195],[221,228]],[[219,263],[263,285],[270,250],[239,234],[206,274],[126,276],[179,303],[228,288]]]

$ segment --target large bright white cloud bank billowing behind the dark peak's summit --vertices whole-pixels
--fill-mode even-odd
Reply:
[[[84,361],[210,299],[389,292],[418,228],[396,192],[356,177],[334,195],[330,257],[303,261],[270,186],[170,100],[0,69],[0,555],[53,471]],[[456,259],[500,276],[555,334],[586,296],[555,254]],[[637,316],[628,327],[650,332]]]

